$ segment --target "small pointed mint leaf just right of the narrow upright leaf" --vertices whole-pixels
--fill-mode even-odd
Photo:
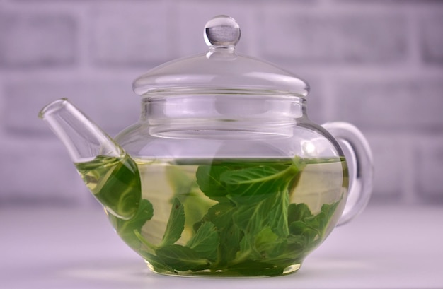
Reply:
[[[219,234],[213,223],[205,222],[195,232],[186,247],[194,249],[201,257],[214,260],[217,258],[217,248],[219,247]]]

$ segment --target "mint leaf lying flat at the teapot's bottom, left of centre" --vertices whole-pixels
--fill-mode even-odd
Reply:
[[[203,270],[209,268],[209,261],[200,258],[195,250],[178,244],[168,244],[156,249],[161,263],[179,271]]]

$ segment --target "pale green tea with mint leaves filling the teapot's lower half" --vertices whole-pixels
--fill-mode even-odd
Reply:
[[[139,177],[116,158],[110,163],[117,168],[102,167],[103,158],[77,164],[79,172],[86,184],[89,176],[99,175],[88,187],[109,194],[105,199],[114,207],[118,200],[139,196],[137,185],[115,189],[115,179],[127,174],[133,180],[126,184],[141,183],[134,216],[124,220],[110,211],[109,218],[158,273],[277,276],[297,271],[337,223],[347,194],[343,158],[136,159]]]

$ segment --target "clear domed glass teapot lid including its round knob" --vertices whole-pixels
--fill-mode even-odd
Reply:
[[[309,84],[292,73],[236,53],[240,27],[234,18],[216,16],[205,25],[207,53],[169,61],[139,76],[138,95],[183,93],[270,94],[305,97]]]

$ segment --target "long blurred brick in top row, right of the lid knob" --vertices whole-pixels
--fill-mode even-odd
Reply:
[[[406,19],[394,11],[299,13],[289,8],[263,16],[259,41],[266,58],[321,65],[396,63],[407,58]]]

